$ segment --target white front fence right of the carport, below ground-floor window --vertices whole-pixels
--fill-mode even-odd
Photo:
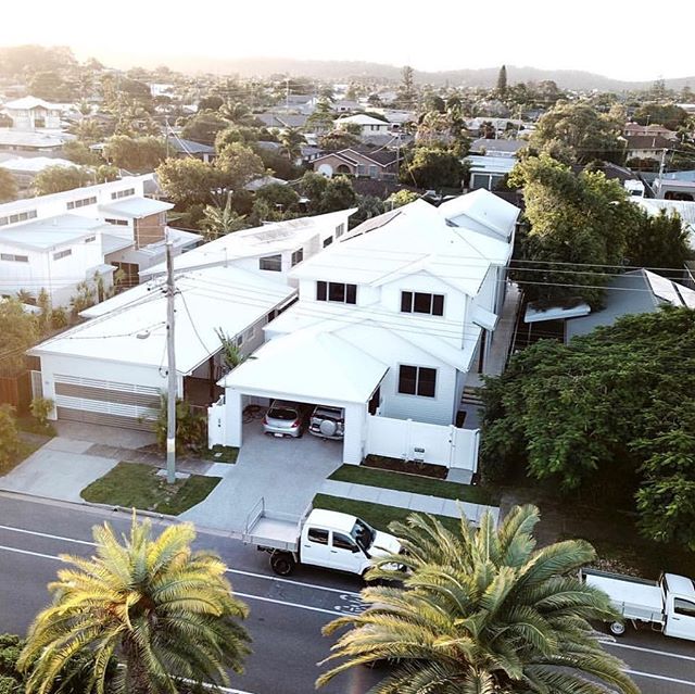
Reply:
[[[476,472],[479,429],[431,425],[369,415],[365,453],[404,460],[424,460]]]

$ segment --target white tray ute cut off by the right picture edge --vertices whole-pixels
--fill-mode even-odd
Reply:
[[[692,579],[675,573],[662,573],[658,581],[594,571],[582,571],[584,581],[610,597],[624,622],[637,629],[648,624],[665,636],[695,641],[695,584]],[[609,629],[616,636],[626,631],[623,621],[614,621]]]

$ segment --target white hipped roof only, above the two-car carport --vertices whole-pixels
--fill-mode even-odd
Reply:
[[[338,336],[306,329],[266,342],[219,386],[267,398],[366,403],[388,370]]]

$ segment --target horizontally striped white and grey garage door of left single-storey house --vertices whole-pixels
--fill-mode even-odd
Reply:
[[[160,391],[64,374],[54,375],[59,419],[151,430],[160,411]]]

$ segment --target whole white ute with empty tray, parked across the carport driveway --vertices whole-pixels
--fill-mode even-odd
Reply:
[[[263,499],[249,514],[242,540],[268,552],[279,576],[298,564],[364,576],[372,556],[401,552],[396,538],[356,516],[309,507],[298,518],[266,510]]]

